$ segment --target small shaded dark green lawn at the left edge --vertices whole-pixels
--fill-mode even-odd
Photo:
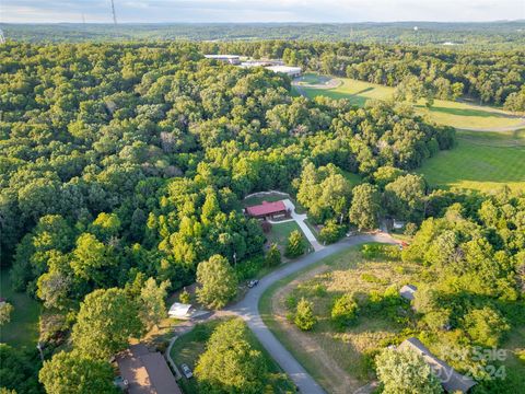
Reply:
[[[38,341],[38,316],[42,306],[25,292],[12,290],[8,270],[2,269],[0,276],[0,297],[14,306],[11,322],[0,328],[0,341],[16,347],[34,347]]]

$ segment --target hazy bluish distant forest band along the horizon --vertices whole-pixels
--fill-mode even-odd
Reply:
[[[518,16],[518,15],[516,15]],[[73,21],[71,21],[73,22]],[[80,22],[80,21],[79,21]],[[415,26],[418,27],[415,31]],[[307,39],[502,49],[523,47],[524,21],[490,23],[178,23],[0,24],[5,35],[28,42]]]

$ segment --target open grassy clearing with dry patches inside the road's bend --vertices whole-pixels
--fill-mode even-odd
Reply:
[[[366,352],[396,336],[401,327],[381,315],[361,315],[354,326],[338,332],[329,318],[334,298],[346,292],[359,298],[370,290],[415,282],[419,269],[398,262],[366,262],[354,247],[273,285],[262,296],[259,310],[273,334],[325,390],[353,392],[372,378]],[[285,317],[287,304],[301,297],[314,302],[318,317],[310,333],[300,332]],[[342,373],[334,373],[337,369]]]

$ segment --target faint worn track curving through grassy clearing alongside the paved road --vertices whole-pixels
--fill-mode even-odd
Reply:
[[[293,337],[295,344],[312,355],[317,361],[317,368],[325,378],[323,383],[329,393],[346,394],[353,393],[360,389],[360,383],[350,376],[339,364],[317,344],[317,341],[307,334],[299,331],[287,320],[287,309],[282,304],[283,298],[300,282],[308,280],[318,274],[323,274],[330,267],[323,265],[304,275],[301,275],[287,286],[280,288],[271,298],[271,310],[273,317],[279,325],[284,326],[287,335]],[[315,355],[315,356],[314,356]]]

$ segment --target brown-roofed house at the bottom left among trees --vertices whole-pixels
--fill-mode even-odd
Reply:
[[[166,360],[145,345],[131,345],[116,358],[129,394],[182,394]]]

